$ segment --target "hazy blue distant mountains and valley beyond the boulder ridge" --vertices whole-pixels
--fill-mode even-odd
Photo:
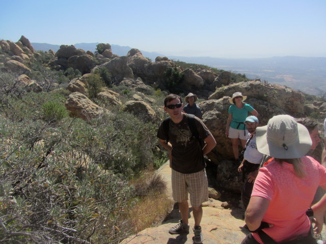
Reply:
[[[98,43],[76,43],[76,48],[95,52]],[[36,50],[58,51],[60,45],[32,43]],[[119,56],[128,53],[131,47],[111,45],[112,52]],[[166,56],[157,52],[141,50],[145,57],[155,60],[157,56]],[[269,57],[269,58],[214,58],[169,56],[170,59],[186,63],[202,64],[212,68],[234,73],[246,74],[250,79],[260,78],[269,83],[286,85],[311,95],[326,94],[326,57]]]

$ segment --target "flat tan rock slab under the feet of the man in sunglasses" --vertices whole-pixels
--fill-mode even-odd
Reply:
[[[242,220],[243,210],[225,209],[221,207],[221,201],[211,200],[209,206],[203,207],[203,218],[201,227],[204,236],[204,244],[234,244],[241,243],[244,237],[249,233],[244,229],[244,221]],[[164,222],[162,225],[155,228],[148,228],[137,235],[133,235],[125,240],[122,244],[154,244],[154,243],[169,243],[169,244],[191,244],[193,242],[194,218],[190,208],[189,225],[191,230],[189,234],[170,234],[169,229],[175,226],[179,219],[171,219]],[[173,211],[178,211],[175,209]]]

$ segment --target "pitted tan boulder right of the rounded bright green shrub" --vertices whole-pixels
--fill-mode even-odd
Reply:
[[[84,94],[78,92],[68,96],[65,106],[70,111],[71,116],[79,117],[84,120],[96,118],[104,111],[103,108],[93,103]]]

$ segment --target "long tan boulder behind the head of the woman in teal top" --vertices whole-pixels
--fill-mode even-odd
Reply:
[[[271,105],[283,109],[285,113],[290,114],[291,116],[304,116],[305,96],[301,92],[297,92],[290,87],[276,84],[272,85],[266,82],[261,82],[260,80],[243,81],[223,86],[216,89],[208,99],[220,99],[224,96],[231,97],[235,92],[241,92],[243,96],[248,96],[248,98],[256,98],[266,101]],[[261,112],[262,111],[258,111],[258,113]]]

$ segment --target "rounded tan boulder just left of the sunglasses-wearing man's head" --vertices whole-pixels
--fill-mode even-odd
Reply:
[[[132,113],[146,123],[157,120],[155,111],[143,101],[128,101],[124,104],[122,110]]]

